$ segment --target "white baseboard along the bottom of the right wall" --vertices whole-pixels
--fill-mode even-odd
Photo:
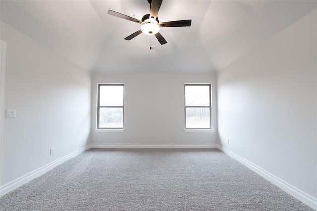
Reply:
[[[285,182],[284,180],[274,176],[273,174],[265,171],[264,169],[260,168],[259,166],[253,164],[252,162],[249,162],[248,160],[238,156],[237,154],[231,152],[230,150],[218,145],[218,149],[230,156],[231,158],[234,158],[238,162],[242,163],[243,165],[247,166],[257,174],[263,176],[265,179],[276,185],[277,187],[281,188],[288,194],[294,196],[301,202],[305,203],[306,205],[310,206],[311,208],[317,210],[317,199],[314,197],[304,193],[303,191],[299,190],[298,188],[292,186],[291,184]]]

